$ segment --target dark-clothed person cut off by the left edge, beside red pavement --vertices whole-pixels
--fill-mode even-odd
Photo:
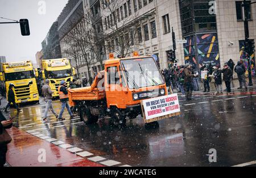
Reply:
[[[0,167],[6,163],[7,144],[11,142],[11,136],[5,129],[10,129],[13,126],[13,121],[6,120],[0,111]]]

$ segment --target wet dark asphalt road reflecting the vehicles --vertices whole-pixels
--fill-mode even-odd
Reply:
[[[181,115],[158,121],[158,128],[146,129],[139,116],[125,127],[111,127],[108,118],[86,126],[78,117],[43,124],[44,101],[22,106],[14,126],[36,130],[96,156],[104,156],[132,166],[232,166],[256,160],[256,89],[236,90],[231,96],[195,93],[195,100],[179,97]],[[42,98],[41,98],[42,99]],[[5,105],[2,102],[2,107]],[[59,113],[60,102],[53,101]],[[7,114],[8,116],[8,114]],[[217,162],[209,163],[210,148],[217,151]]]

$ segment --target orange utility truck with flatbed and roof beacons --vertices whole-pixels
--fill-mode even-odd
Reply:
[[[69,104],[77,106],[81,121],[96,123],[110,116],[114,125],[126,123],[126,117],[142,114],[141,101],[167,95],[166,83],[152,56],[105,61],[105,71],[95,77],[92,86],[68,89]]]

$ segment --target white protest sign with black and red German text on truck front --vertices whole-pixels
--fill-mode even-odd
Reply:
[[[180,105],[176,93],[143,100],[142,107],[146,123],[180,114]]]

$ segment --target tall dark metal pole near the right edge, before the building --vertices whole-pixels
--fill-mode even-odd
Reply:
[[[243,0],[243,13],[244,13],[244,28],[245,28],[245,55],[247,57],[247,70],[248,70],[248,78],[249,78],[249,86],[253,86],[253,82],[251,81],[251,64],[250,64],[250,54],[248,53],[248,47],[246,45],[249,42],[249,25],[248,25],[248,19],[247,19],[247,4],[246,0]]]

